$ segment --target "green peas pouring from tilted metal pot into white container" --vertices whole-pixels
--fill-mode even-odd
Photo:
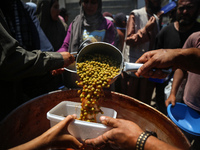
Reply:
[[[119,74],[120,63],[103,54],[86,54],[79,61],[76,68],[80,81],[76,83],[83,87],[78,91],[82,102],[79,119],[96,122],[96,114],[103,113],[99,106],[103,88],[109,88],[109,82]]]

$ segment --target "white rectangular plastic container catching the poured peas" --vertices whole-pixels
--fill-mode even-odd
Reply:
[[[77,114],[80,116],[81,103],[63,101],[47,112],[47,119],[50,120],[51,127],[62,121],[67,115]],[[101,107],[104,112],[104,116],[116,118],[117,112],[110,108]],[[79,141],[84,141],[88,138],[95,138],[111,128],[100,123],[99,117],[102,114],[97,115],[97,123],[87,122],[82,120],[74,120],[68,126],[68,131],[71,135],[75,136]]]

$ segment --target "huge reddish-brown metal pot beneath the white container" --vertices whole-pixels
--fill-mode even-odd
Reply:
[[[7,149],[27,142],[50,127],[46,113],[61,101],[80,102],[77,90],[57,91],[34,98],[15,109],[0,125],[0,149]],[[115,109],[117,118],[136,122],[142,129],[155,131],[158,138],[182,149],[190,143],[181,130],[156,109],[134,98],[105,91],[103,107]],[[109,148],[112,149],[112,148]]]

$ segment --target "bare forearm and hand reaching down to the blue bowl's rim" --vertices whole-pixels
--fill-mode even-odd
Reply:
[[[168,97],[168,99],[165,101],[165,105],[168,106],[170,103],[174,106],[176,102],[176,93],[178,91],[179,86],[181,85],[184,76],[187,72],[183,71],[181,69],[177,69],[174,72],[174,77],[173,77],[173,83],[172,83],[172,89],[171,93]]]

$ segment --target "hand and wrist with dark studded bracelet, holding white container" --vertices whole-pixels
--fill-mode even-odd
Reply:
[[[100,120],[103,124],[113,127],[113,129],[95,139],[87,139],[85,141],[86,144],[99,147],[101,145],[104,145],[105,143],[110,143],[122,149],[136,148],[137,139],[143,132],[143,130],[137,124],[128,120],[114,119],[105,116],[100,117]],[[153,136],[150,136],[145,143],[144,149],[176,150],[177,148]]]

